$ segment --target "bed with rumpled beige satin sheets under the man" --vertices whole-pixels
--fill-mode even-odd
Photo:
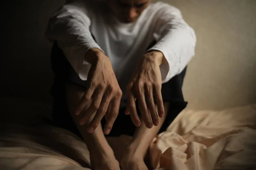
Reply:
[[[51,124],[51,105],[17,97],[0,103],[0,170],[91,170],[84,142]],[[108,138],[116,157],[129,140]],[[256,104],[185,109],[152,141],[150,156],[159,170],[256,170]]]

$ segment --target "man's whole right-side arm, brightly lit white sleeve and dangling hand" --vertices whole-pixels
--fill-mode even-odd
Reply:
[[[154,15],[153,25],[157,43],[142,57],[128,83],[128,104],[125,111],[131,115],[134,125],[140,125],[135,107],[135,99],[138,98],[141,116],[148,128],[157,126],[158,116],[164,115],[162,83],[183,71],[194,55],[196,41],[194,31],[182,19],[178,9],[165,3],[157,3],[155,8],[157,13]]]

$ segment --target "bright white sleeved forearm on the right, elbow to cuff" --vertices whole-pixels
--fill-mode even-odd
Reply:
[[[166,62],[161,65],[160,70],[163,83],[168,82],[180,74],[194,56],[194,32],[189,26],[170,29],[150,50],[163,53]]]

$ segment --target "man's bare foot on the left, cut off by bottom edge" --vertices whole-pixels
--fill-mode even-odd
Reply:
[[[90,161],[93,170],[120,170],[119,162],[113,154],[92,153]]]

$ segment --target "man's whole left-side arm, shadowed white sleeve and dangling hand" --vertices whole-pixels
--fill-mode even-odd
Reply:
[[[80,125],[87,122],[92,133],[105,116],[105,134],[110,133],[118,114],[122,91],[118,85],[110,59],[105,56],[90,33],[93,12],[91,1],[71,0],[50,20],[46,36],[56,41],[82,80],[87,80],[87,91],[81,97],[76,115],[83,114]],[[90,6],[89,6],[90,7]],[[110,105],[112,107],[110,107]],[[93,120],[89,121],[96,113]]]

